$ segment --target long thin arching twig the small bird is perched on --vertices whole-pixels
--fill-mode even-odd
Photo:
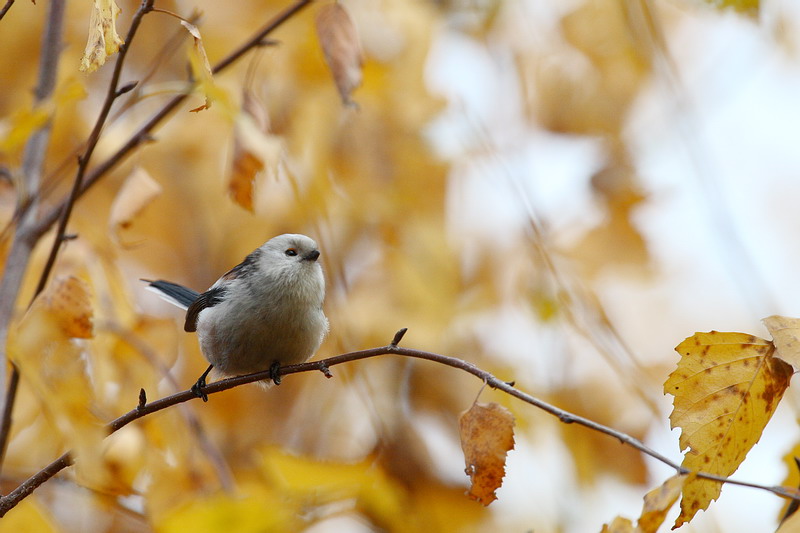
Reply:
[[[690,470],[682,467],[681,465],[672,461],[668,457],[653,450],[640,440],[628,435],[627,433],[617,431],[616,429],[604,426],[603,424],[599,424],[597,422],[594,422],[593,420],[589,420],[588,418],[584,418],[582,416],[576,415],[569,411],[565,411],[564,409],[560,409],[554,405],[544,402],[534,396],[531,396],[530,394],[527,394],[515,388],[508,382],[496,378],[490,372],[482,370],[477,366],[473,365],[472,363],[469,363],[462,359],[457,359],[455,357],[449,357],[446,355],[440,355],[431,352],[423,352],[421,350],[413,350],[409,348],[401,348],[396,343],[399,342],[400,338],[402,338],[404,333],[405,333],[405,328],[403,330],[398,331],[395,334],[392,343],[386,346],[382,346],[380,348],[371,348],[369,350],[350,352],[342,355],[337,355],[334,357],[329,357],[327,359],[321,359],[319,361],[302,363],[299,365],[287,365],[280,367],[279,369],[277,369],[276,372],[278,375],[281,376],[285,376],[288,374],[297,374],[299,372],[326,373],[328,368],[334,365],[359,361],[361,359],[369,359],[381,355],[398,355],[402,357],[413,357],[415,359],[425,359],[427,361],[433,361],[435,363],[457,368],[459,370],[463,370],[464,372],[472,374],[473,376],[476,376],[481,381],[483,381],[486,385],[494,389],[503,391],[506,394],[509,394],[515,398],[522,400],[523,402],[529,403],[530,405],[538,407],[539,409],[542,409],[543,411],[557,417],[561,422],[565,424],[577,424],[592,429],[594,431],[603,433],[610,437],[613,437],[619,440],[620,443],[631,446],[632,448],[635,448],[640,452],[649,455],[650,457],[657,459],[658,461],[668,465],[669,467],[675,469],[675,471],[680,474],[688,474],[691,472]],[[271,379],[273,377],[272,373],[273,373],[272,370],[265,370],[263,372],[256,372],[254,374],[247,374],[244,376],[236,376],[233,378],[223,379],[211,383],[209,385],[206,385],[206,387],[203,389],[203,392],[210,396],[212,394],[232,389],[234,387],[239,387],[247,383],[253,383],[256,381]],[[164,409],[167,409],[168,407],[172,407],[173,405],[178,405],[184,402],[188,402],[190,400],[197,400],[197,399],[198,396],[194,393],[194,391],[185,390],[177,394],[167,396],[165,398],[160,398],[145,405],[138,404],[135,408],[128,411],[124,415],[109,422],[106,427],[109,433],[114,433],[115,431],[127,426],[134,420],[137,420],[152,413],[156,413],[158,411],[162,411]],[[70,466],[71,464],[72,464],[72,458],[69,452],[67,452],[58,459],[56,459],[55,461],[53,461],[52,463],[50,463],[44,469],[31,476],[28,480],[23,482],[19,487],[8,493],[6,496],[1,497],[0,517],[4,516],[9,510],[14,508],[14,506],[16,506],[20,501],[22,501],[25,497],[30,495],[34,490],[36,490],[36,488],[39,485],[46,482],[48,479],[52,478],[58,472]],[[787,489],[785,487],[759,485],[757,483],[738,481],[735,479],[716,476],[713,474],[707,474],[704,472],[697,472],[696,475],[699,478],[707,479],[710,481],[761,489],[776,494],[778,496],[781,496],[783,498],[800,500],[800,493],[798,493],[798,491]]]

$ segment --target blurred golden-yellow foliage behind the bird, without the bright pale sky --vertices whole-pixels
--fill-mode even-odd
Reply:
[[[25,143],[52,120],[37,197],[45,212],[72,185],[76,154],[116,58],[101,66],[91,56],[84,68],[97,71],[79,72],[87,27],[93,35],[108,28],[92,19],[92,2],[69,2],[55,96],[34,106],[30,88],[45,12],[39,4],[17,2],[0,20],[0,165],[10,176],[0,182],[4,261],[23,200]],[[101,4],[111,13],[105,24],[115,20],[124,37],[139,3],[119,0],[118,17],[113,2]],[[24,314],[49,240],[35,250],[9,345],[23,382],[3,482],[13,488],[67,449],[77,451],[78,467],[15,508],[0,531],[326,531],[336,523],[363,531],[555,531],[581,507],[581,491],[602,490],[609,477],[644,494],[654,483],[638,452],[485,391],[482,399],[503,402],[516,420],[510,458],[558,435],[566,465],[558,486],[570,494],[556,511],[521,506],[504,517],[493,511],[502,488],[499,502],[482,507],[465,495],[458,436],[459,413],[481,383],[393,357],[337,366],[331,380],[303,374],[266,392],[240,387],[102,439],[101,424],[133,408],[140,388],[151,400],[183,390],[206,366],[195,337],[180,327],[180,313],[143,291],[139,278],[202,290],[284,232],[311,235],[321,245],[331,333],[317,357],[382,346],[408,327],[404,343],[469,360],[638,438],[666,418],[654,400],[665,366],[631,356],[591,287],[609,272],[653,275],[635,223],[649,198],[625,125],[655,58],[665,53],[664,25],[692,17],[698,6],[681,2],[685,13],[676,13],[649,0],[563,3],[552,34],[534,45],[514,2],[343,1],[346,30],[330,27],[331,13],[344,20],[340,8],[319,2],[271,35],[274,42],[210,75],[208,64],[288,4],[157,1],[187,19],[184,25],[152,12],[128,43],[121,83],[138,85],[116,102],[90,168],[165,101],[192,90],[190,73],[198,87],[152,142],[80,199],[68,228],[77,239],[63,247],[56,281]],[[327,22],[317,19],[322,10]],[[530,210],[518,230],[497,239],[454,222],[469,180],[464,163],[493,147],[464,141],[470,148],[452,158],[431,142],[431,124],[452,104],[429,88],[426,74],[445,34],[463,36],[482,53],[502,50],[531,127],[599,140],[603,164],[585,187],[600,216],[571,244],[556,246],[547,221]],[[103,45],[109,54],[112,48]],[[505,103],[496,103],[498,116]],[[467,218],[490,226],[483,216]],[[86,334],[52,322],[47,304],[65,286],[69,298],[90,309],[91,334],[71,315],[58,320]],[[548,344],[557,346],[552,352],[529,337],[499,342],[504,327],[519,323],[536,335],[573,340]],[[664,520],[675,483],[666,496],[648,495],[651,508],[640,523],[655,525],[647,530]],[[615,523],[633,528],[625,519]]]

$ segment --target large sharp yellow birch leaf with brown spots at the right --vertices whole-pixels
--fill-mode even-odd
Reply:
[[[771,342],[744,333],[696,333],[675,350],[681,360],[664,393],[675,397],[670,421],[681,428],[683,466],[729,476],[761,438],[792,367],[774,357]],[[686,482],[675,527],[707,509],[720,490],[713,481]]]

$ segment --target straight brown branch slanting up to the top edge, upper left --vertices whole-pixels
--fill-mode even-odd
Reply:
[[[211,68],[211,72],[213,74],[219,74],[220,72],[227,69],[233,63],[235,63],[239,58],[241,58],[244,54],[249,52],[252,49],[259,48],[262,46],[264,39],[267,35],[275,31],[278,27],[280,27],[284,22],[292,18],[298,12],[300,12],[304,7],[312,3],[313,0],[297,0],[295,3],[287,7],[284,11],[276,15],[272,20],[270,20],[263,28],[258,30],[253,36],[245,41],[242,45],[240,45],[236,50],[228,54],[222,60],[220,60],[216,65]],[[130,153],[142,143],[149,141],[152,139],[151,133],[155,130],[156,126],[161,124],[161,122],[167,118],[174,110],[181,104],[186,98],[188,98],[187,94],[179,94],[174,96],[170,99],[164,106],[158,110],[151,118],[148,120],[144,125],[142,125],[131,137],[128,139],[125,144],[123,144],[120,148],[117,149],[111,156],[108,157],[105,161],[100,163],[96,166],[90,173],[86,175],[86,178],[83,180],[83,186],[81,190],[78,191],[78,197],[83,195],[87,190],[89,190],[95,183],[97,183],[106,173],[108,173],[111,169],[116,167],[120,164]],[[44,214],[40,219],[39,223],[36,225],[35,228],[31,230],[31,237],[38,238],[41,235],[44,235],[50,227],[58,220],[59,214],[64,209],[67,201],[62,202],[61,205],[56,206],[55,208],[48,211]]]

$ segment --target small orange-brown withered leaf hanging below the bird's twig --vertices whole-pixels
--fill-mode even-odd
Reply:
[[[514,448],[514,416],[496,404],[475,403],[459,420],[461,449],[472,480],[469,497],[483,505],[497,499],[503,484],[506,454]]]

